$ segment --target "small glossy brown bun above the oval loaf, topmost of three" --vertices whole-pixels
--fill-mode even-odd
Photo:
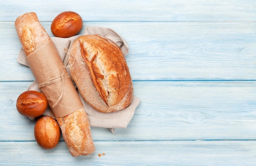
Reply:
[[[56,37],[71,37],[79,33],[83,26],[81,16],[73,11],[64,11],[52,21],[51,31]]]

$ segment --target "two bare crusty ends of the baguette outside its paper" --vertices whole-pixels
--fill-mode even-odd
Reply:
[[[40,24],[36,13],[25,13],[19,16],[16,19],[15,27],[27,56],[36,50],[36,46],[39,43],[51,40]],[[83,107],[67,116],[56,119],[72,156],[94,153],[95,147],[91,136],[90,124]]]

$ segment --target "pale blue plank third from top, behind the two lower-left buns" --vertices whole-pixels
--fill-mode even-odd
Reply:
[[[16,111],[29,83],[0,82],[0,141],[34,140],[34,122]],[[135,81],[134,92],[141,103],[128,127],[92,128],[94,140],[255,139],[255,81]]]

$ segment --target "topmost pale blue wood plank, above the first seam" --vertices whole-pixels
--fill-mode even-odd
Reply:
[[[50,5],[50,6],[49,6]],[[2,0],[0,21],[14,21],[34,11],[42,21],[52,21],[63,11],[75,11],[85,21],[219,21],[256,18],[254,0]]]

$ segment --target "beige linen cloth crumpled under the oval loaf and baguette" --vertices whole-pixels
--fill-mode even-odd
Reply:
[[[103,35],[112,41],[114,41],[124,52],[124,55],[128,54],[128,44],[125,39],[123,39],[120,35],[118,35],[115,31],[113,31],[110,28],[103,28],[103,27],[94,27],[94,26],[88,26],[85,29],[85,32],[83,35],[93,35],[93,34],[99,34]],[[69,38],[60,38],[60,37],[51,37],[52,41],[54,42],[58,53],[63,61],[63,63],[68,66],[68,59],[69,59],[69,54],[68,50],[70,50],[73,42],[80,37],[81,35],[75,35]],[[67,50],[68,49],[68,50]],[[21,63],[22,65],[28,66],[27,61],[25,60],[26,55],[24,52],[24,49],[21,48],[19,55],[18,55],[18,63]],[[69,68],[67,67],[67,71],[70,73]],[[75,83],[74,83],[74,86]],[[40,89],[38,88],[38,84],[36,81],[34,81],[27,90],[36,90],[40,92]],[[78,92],[79,93],[79,92]],[[112,112],[112,113],[102,113],[99,112],[90,105],[88,105],[85,100],[81,97],[79,94],[83,106],[85,108],[85,111],[88,114],[88,118],[90,121],[90,126],[91,127],[102,127],[102,128],[108,128],[112,133],[115,133],[115,128],[126,128],[130,120],[132,119],[135,108],[139,105],[140,99],[137,98],[136,96],[132,97],[132,102],[131,104],[126,107],[125,109],[122,109],[120,111]],[[46,116],[52,116],[53,118],[54,115],[52,114],[52,111],[48,107],[46,111],[44,112],[43,115]],[[34,118],[30,118],[31,120],[35,120]]]

